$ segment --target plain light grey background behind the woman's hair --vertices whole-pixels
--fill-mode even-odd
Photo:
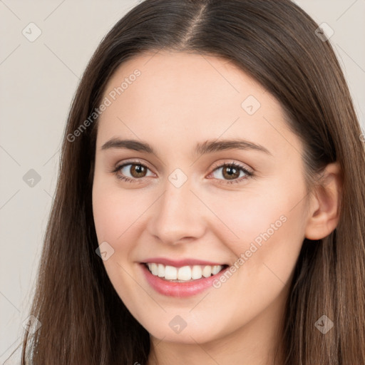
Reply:
[[[295,2],[334,30],[330,41],[365,130],[365,0]],[[0,0],[1,364],[19,344],[28,317],[73,94],[101,38],[135,4]],[[30,33],[31,22],[42,32],[33,42],[22,34]],[[41,176],[34,187],[23,180],[31,169]]]

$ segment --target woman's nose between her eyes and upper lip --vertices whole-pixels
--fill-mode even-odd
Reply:
[[[151,211],[148,231],[168,245],[192,242],[202,237],[207,227],[203,208],[197,193],[190,190],[189,180],[180,187],[167,180],[163,195]]]

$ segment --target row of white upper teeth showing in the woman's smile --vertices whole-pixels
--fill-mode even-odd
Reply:
[[[183,267],[173,267],[155,262],[145,262],[143,264],[155,277],[160,277],[160,279],[168,282],[193,282],[194,280],[202,279],[202,277],[211,277],[228,267],[227,264],[214,266],[190,265]]]

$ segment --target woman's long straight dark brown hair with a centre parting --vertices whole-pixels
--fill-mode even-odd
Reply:
[[[365,364],[365,150],[339,62],[317,28],[289,0],[146,0],[115,24],[88,63],[69,113],[30,313],[41,327],[25,331],[22,364],[147,363],[149,334],[96,255],[97,118],[75,131],[98,108],[121,63],[162,49],[224,57],[272,93],[304,143],[312,186],[338,161],[339,224],[323,240],[303,242],[282,327],[284,364]],[[315,327],[323,315],[334,323],[326,334]]]

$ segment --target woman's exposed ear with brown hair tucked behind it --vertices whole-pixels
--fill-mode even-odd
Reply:
[[[314,185],[305,237],[321,240],[336,228],[342,196],[342,178],[339,163],[330,163],[324,169],[319,185]]]

